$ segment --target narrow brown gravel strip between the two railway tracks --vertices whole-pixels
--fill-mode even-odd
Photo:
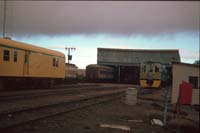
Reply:
[[[19,100],[10,100],[10,101],[0,101],[0,113],[7,113],[17,110],[23,110],[28,108],[34,108],[39,106],[45,106],[49,104],[57,104],[63,101],[70,101],[77,98],[85,97],[85,95],[92,95],[97,92],[102,91],[109,91],[114,90],[115,88],[99,88],[99,89],[90,89],[90,90],[76,90],[73,93],[68,91],[64,92],[63,94],[56,94],[55,95],[47,95],[47,96],[40,96],[40,97],[31,97],[26,99],[19,99]]]

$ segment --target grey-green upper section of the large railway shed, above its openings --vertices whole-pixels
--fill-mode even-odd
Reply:
[[[178,49],[113,49],[98,48],[97,63],[102,65],[139,65],[147,61],[171,64],[180,62]]]

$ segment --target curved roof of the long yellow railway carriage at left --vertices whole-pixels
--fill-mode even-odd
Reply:
[[[18,42],[18,41],[13,41],[10,39],[0,38],[0,46],[16,48],[16,49],[25,50],[25,51],[27,50],[27,51],[31,51],[31,52],[38,52],[38,53],[42,53],[42,54],[65,58],[65,55],[61,52],[34,46],[34,45],[30,45],[30,44],[26,44],[26,43],[22,43],[22,42]]]

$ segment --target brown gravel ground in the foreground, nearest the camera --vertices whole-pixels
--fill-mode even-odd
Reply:
[[[158,91],[159,94],[160,91]],[[152,96],[151,96],[152,95]],[[145,98],[154,97],[145,94]],[[140,96],[142,97],[142,96]],[[167,127],[151,124],[151,119],[163,120],[162,97],[153,101],[138,99],[136,105],[127,105],[124,98],[56,115],[18,127],[0,131],[1,133],[198,133],[199,110],[193,106],[183,107],[186,115],[175,115],[174,106],[169,105]],[[195,118],[195,119],[193,119]],[[139,121],[139,122],[137,122]],[[117,128],[102,128],[101,124],[126,126],[129,131]],[[119,127],[119,126],[118,126]]]

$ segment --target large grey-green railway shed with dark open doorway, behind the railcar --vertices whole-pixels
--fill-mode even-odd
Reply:
[[[170,75],[172,62],[180,62],[178,49],[113,49],[98,48],[97,64],[111,66],[115,70],[115,81],[139,84],[140,64],[154,61],[166,65]]]

